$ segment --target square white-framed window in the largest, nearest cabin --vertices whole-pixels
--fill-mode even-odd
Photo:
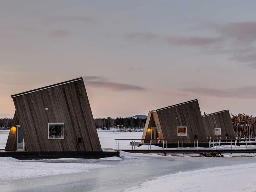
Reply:
[[[48,139],[64,139],[64,123],[48,123]]]

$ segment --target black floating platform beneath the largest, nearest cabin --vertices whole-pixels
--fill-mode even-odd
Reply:
[[[12,157],[19,160],[34,159],[60,159],[60,158],[76,158],[76,159],[100,159],[113,156],[120,156],[119,151],[108,150],[99,152],[26,152],[26,151],[0,151],[0,157]]]

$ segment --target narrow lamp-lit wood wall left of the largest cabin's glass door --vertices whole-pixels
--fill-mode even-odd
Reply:
[[[15,111],[14,116],[13,116],[13,120],[12,120],[12,126],[17,126],[19,125],[19,119],[18,119],[18,115],[17,112]],[[8,139],[6,142],[6,146],[5,146],[5,151],[16,151],[17,149],[17,128],[11,128],[9,135],[8,135]]]

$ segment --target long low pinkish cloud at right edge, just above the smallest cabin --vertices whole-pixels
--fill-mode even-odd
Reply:
[[[228,98],[256,98],[256,86],[247,86],[233,89],[211,89],[211,88],[184,88],[181,91],[196,95],[206,95]]]

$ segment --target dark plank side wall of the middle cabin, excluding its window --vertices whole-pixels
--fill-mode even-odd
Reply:
[[[156,111],[165,140],[193,142],[197,139],[207,139],[208,130],[204,128],[198,100]],[[187,127],[187,136],[177,136],[177,127],[179,126]]]

